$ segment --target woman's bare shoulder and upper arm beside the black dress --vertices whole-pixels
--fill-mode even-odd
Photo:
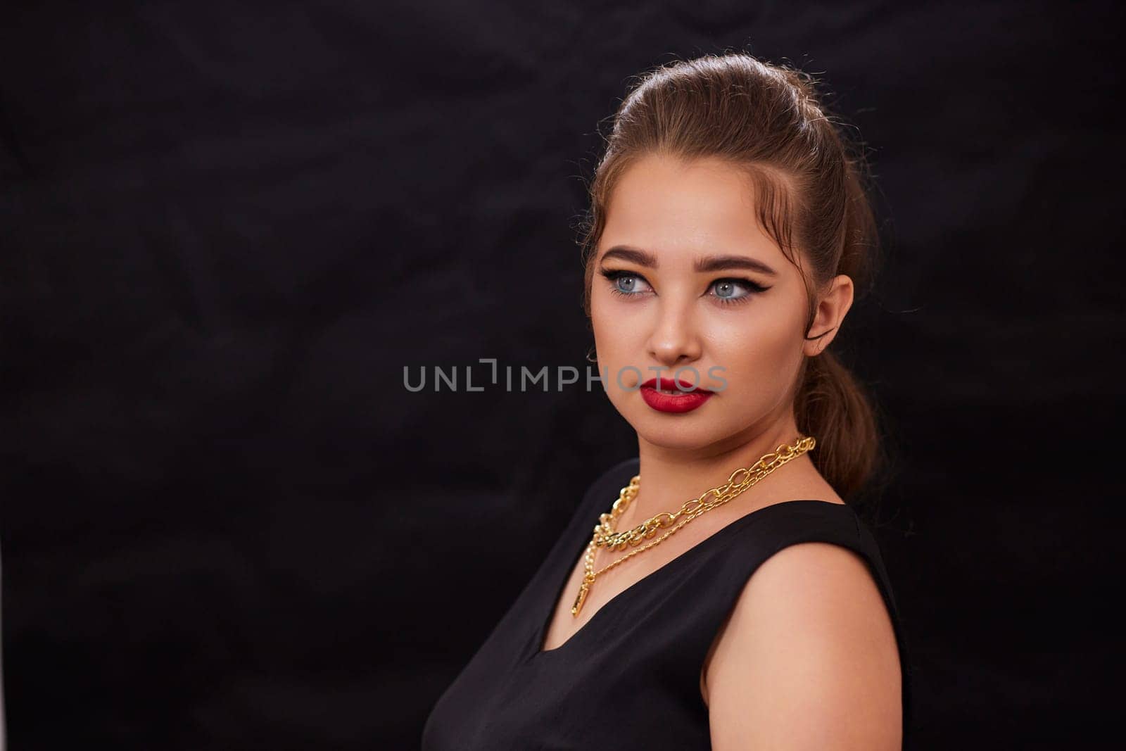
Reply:
[[[716,751],[902,745],[899,647],[864,557],[799,543],[748,580],[706,667]]]

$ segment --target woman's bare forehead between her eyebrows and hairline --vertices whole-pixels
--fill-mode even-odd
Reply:
[[[649,155],[626,169],[609,196],[599,252],[629,244],[670,263],[750,252],[779,268],[785,256],[757,214],[744,172],[714,159]]]

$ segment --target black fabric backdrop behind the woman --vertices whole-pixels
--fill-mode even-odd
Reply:
[[[1093,748],[1121,497],[1110,3],[62,3],[0,44],[11,749],[417,748],[611,463],[575,223],[627,78],[823,73],[919,748]],[[834,347],[838,345],[834,343]],[[554,378],[554,376],[553,376]],[[875,497],[874,495],[874,497]]]

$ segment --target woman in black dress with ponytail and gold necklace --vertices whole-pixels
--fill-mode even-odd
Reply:
[[[860,164],[808,77],[747,54],[623,101],[583,302],[638,456],[590,485],[425,751],[901,748],[903,635],[844,501],[876,423],[826,349],[875,243]]]

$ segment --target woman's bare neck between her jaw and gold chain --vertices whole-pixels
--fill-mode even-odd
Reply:
[[[721,444],[701,448],[658,446],[638,436],[641,488],[623,517],[624,526],[618,528],[641,524],[662,511],[679,510],[688,500],[726,483],[735,470],[750,467],[779,445],[793,445],[798,435],[790,415],[769,426],[753,426]],[[768,498],[779,500],[778,493],[785,492],[779,485],[789,485],[798,475],[807,476],[811,471],[816,472],[812,461],[802,455],[771,472],[732,503],[753,509],[770,502]],[[787,479],[787,475],[790,476]]]

